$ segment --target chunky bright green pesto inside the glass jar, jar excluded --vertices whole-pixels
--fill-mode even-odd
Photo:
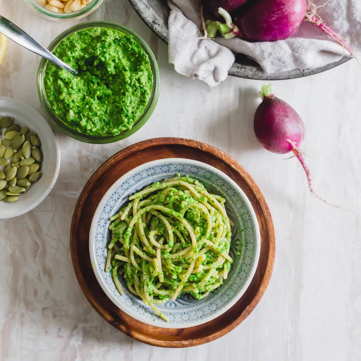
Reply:
[[[50,108],[72,129],[118,135],[131,129],[149,103],[153,73],[132,35],[93,27],[60,41],[53,53],[77,77],[48,62],[44,87]]]

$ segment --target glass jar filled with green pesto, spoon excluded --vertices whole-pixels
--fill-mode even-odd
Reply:
[[[64,31],[48,49],[79,71],[74,76],[45,59],[38,70],[40,103],[49,119],[87,143],[111,143],[140,129],[159,97],[151,49],[133,31],[86,22]]]

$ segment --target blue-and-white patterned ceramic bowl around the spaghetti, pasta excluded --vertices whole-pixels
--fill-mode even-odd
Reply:
[[[234,260],[223,285],[203,300],[182,295],[157,305],[169,322],[158,318],[143,301],[129,292],[125,280],[119,278],[125,294],[121,296],[110,273],[104,271],[110,240],[109,217],[125,204],[128,197],[149,184],[176,173],[198,179],[212,192],[225,197],[229,217],[234,221],[230,255]],[[242,231],[241,231],[242,230]],[[256,214],[242,189],[212,166],[183,158],[168,158],[145,163],[118,179],[101,199],[90,229],[89,250],[96,278],[106,295],[129,316],[152,326],[186,328],[211,321],[233,306],[251,282],[260,255],[260,230]]]

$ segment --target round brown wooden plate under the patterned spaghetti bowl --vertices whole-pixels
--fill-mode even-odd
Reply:
[[[109,187],[127,171],[162,158],[189,158],[210,164],[231,177],[256,212],[261,253],[256,274],[240,300],[203,325],[186,329],[149,326],[118,309],[95,278],[87,252],[93,214]],[[110,157],[89,179],[75,206],[70,250],[78,282],[93,308],[111,325],[132,338],[161,347],[189,347],[213,341],[238,326],[255,308],[268,285],[274,264],[275,236],[268,205],[251,176],[233,158],[211,145],[182,138],[155,138],[131,145]],[[85,250],[85,251],[84,251]]]

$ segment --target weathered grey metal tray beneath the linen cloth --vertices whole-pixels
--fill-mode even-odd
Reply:
[[[149,26],[149,28],[165,43],[168,43],[168,17],[170,9],[166,0],[129,0],[135,11]],[[350,60],[343,57],[341,60],[314,69],[295,69],[281,73],[265,74],[258,64],[242,54],[237,54],[236,61],[229,70],[229,75],[239,78],[257,80],[283,80],[307,77],[326,71]]]

